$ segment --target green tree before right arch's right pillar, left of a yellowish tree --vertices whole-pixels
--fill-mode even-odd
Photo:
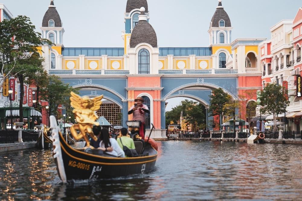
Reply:
[[[221,125],[221,117],[225,112],[224,105],[229,101],[228,94],[222,88],[212,91],[210,97],[209,114],[211,116],[219,115],[219,126]],[[220,126],[221,127],[221,126]]]

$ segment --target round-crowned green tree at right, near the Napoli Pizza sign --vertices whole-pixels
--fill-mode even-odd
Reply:
[[[273,83],[268,84],[259,95],[260,111],[262,113],[271,113],[274,117],[273,131],[277,130],[276,115],[284,113],[284,106],[288,106],[290,103],[283,95],[284,90],[281,85]]]

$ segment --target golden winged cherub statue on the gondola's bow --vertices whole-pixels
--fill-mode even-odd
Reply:
[[[71,92],[70,94],[71,106],[74,108],[72,113],[75,114],[76,120],[78,122],[77,124],[71,126],[70,132],[76,140],[84,138],[87,142],[87,147],[89,147],[90,142],[86,133],[88,133],[95,141],[98,140],[98,138],[92,132],[92,127],[93,125],[99,125],[98,122],[95,122],[95,120],[98,119],[95,111],[100,109],[103,96],[91,99],[87,96],[80,97],[73,92]],[[76,129],[80,130],[79,135],[77,134]]]

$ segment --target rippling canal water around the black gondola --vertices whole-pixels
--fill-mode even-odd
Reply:
[[[302,146],[158,142],[153,172],[60,183],[49,150],[0,154],[1,200],[301,200]],[[79,144],[78,146],[81,146]]]

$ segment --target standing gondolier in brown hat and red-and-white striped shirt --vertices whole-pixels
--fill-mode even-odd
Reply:
[[[134,104],[128,114],[133,114],[133,121],[140,121],[140,136],[145,139],[146,133],[146,113],[150,113],[148,106],[144,105],[144,99],[142,97],[137,97],[135,100],[136,104]]]

